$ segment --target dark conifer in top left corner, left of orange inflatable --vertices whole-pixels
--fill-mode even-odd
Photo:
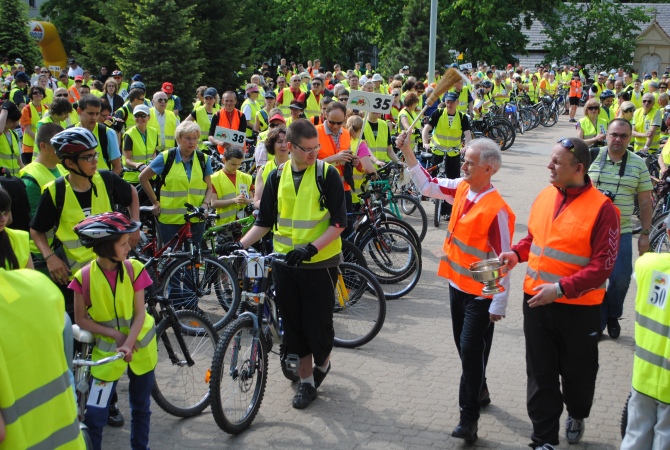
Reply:
[[[0,0],[0,50],[10,61],[23,60],[28,73],[35,64],[42,64],[39,47],[30,37],[28,6],[21,0]]]

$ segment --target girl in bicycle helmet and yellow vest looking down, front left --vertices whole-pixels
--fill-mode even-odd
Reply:
[[[151,390],[158,360],[154,319],[144,308],[144,288],[151,277],[144,265],[128,260],[130,233],[139,224],[118,212],[88,217],[75,227],[81,243],[97,258],[79,270],[74,291],[75,320],[96,337],[93,361],[123,352],[121,360],[91,368],[91,388],[84,423],[94,449],[102,446],[102,430],[116,384],[128,368],[131,448],[149,448]]]

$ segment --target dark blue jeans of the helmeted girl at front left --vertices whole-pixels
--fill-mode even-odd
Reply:
[[[135,375],[128,367],[128,379],[130,385],[128,394],[130,397],[130,448],[133,450],[145,450],[149,448],[149,429],[151,426],[151,390],[154,387],[154,371],[144,375]],[[93,379],[91,379],[91,382]],[[94,450],[102,448],[102,429],[107,425],[109,417],[109,400],[116,391],[117,381],[112,386],[112,395],[104,404],[87,405],[84,423],[88,427],[88,435],[91,438]]]

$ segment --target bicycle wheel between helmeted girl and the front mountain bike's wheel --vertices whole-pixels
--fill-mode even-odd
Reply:
[[[218,336],[204,315],[189,310],[177,311],[175,314],[178,324],[166,316],[156,328],[158,363],[154,369],[156,382],[151,397],[168,414],[193,417],[209,406],[206,377]],[[188,327],[183,327],[183,323],[188,324]],[[177,332],[181,333],[186,348],[181,346],[175,334]],[[194,362],[191,366],[186,363],[186,351]]]

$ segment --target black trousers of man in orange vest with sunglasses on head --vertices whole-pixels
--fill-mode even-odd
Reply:
[[[575,419],[591,412],[598,374],[600,306],[550,303],[531,308],[527,303],[531,297],[524,294],[523,302],[531,439],[558,445],[563,403]]]

